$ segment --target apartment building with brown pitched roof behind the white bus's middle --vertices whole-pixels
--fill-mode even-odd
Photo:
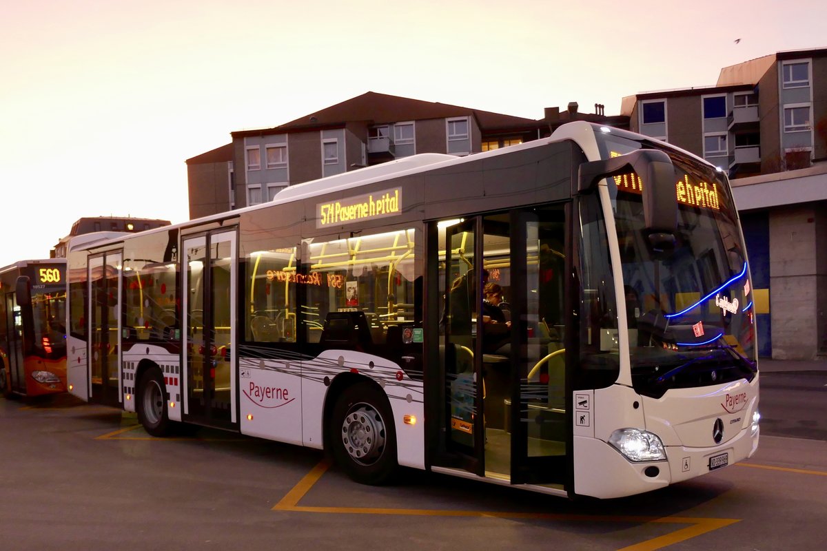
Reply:
[[[547,108],[542,119],[368,92],[187,159],[190,218],[270,201],[289,185],[418,153],[474,154],[550,135],[567,121],[629,117]]]

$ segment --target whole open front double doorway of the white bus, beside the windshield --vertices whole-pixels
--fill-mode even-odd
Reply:
[[[444,302],[428,308],[441,333],[434,339],[432,330],[428,350],[440,369],[426,380],[426,395],[438,397],[429,401],[440,420],[428,435],[434,470],[567,486],[568,211],[557,205],[432,223],[428,294]],[[446,226],[444,238],[436,226]],[[486,283],[502,287],[509,302],[510,323],[496,330],[484,321]]]

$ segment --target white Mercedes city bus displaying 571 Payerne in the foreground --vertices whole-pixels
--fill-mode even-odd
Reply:
[[[68,272],[70,392],[151,435],[325,449],[366,483],[404,466],[597,497],[758,446],[729,183],[626,131],[323,178],[70,245]]]

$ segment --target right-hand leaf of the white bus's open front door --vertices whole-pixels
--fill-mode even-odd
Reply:
[[[549,205],[511,215],[509,299],[519,340],[509,400],[511,483],[570,480],[571,246],[569,207]],[[569,352],[566,352],[566,349]],[[566,358],[569,358],[567,361]]]

